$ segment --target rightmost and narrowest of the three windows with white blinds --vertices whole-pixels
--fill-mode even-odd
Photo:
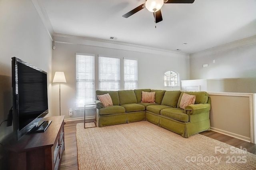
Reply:
[[[124,90],[138,89],[138,61],[124,58]]]

